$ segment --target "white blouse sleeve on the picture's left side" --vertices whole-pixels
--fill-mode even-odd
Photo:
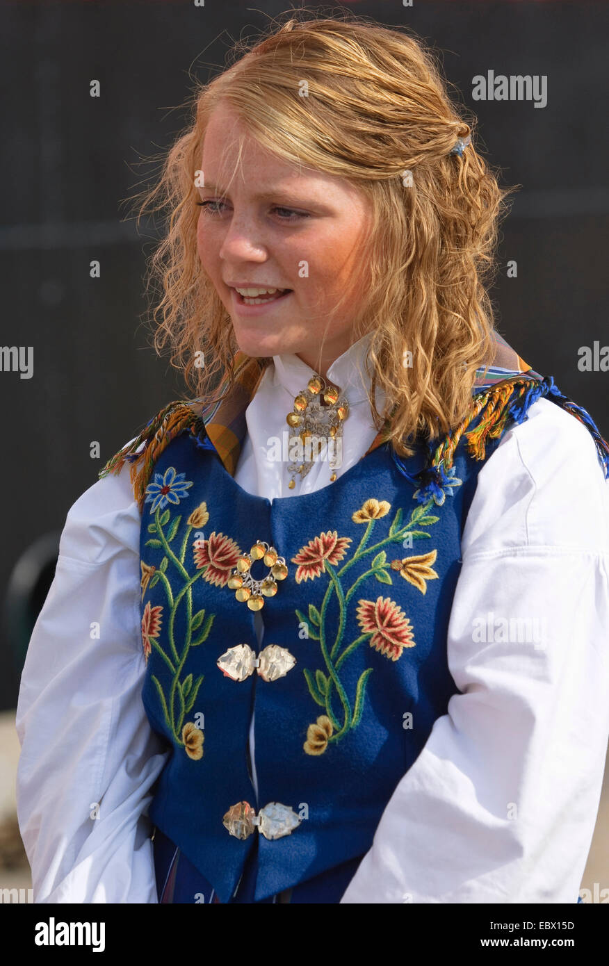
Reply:
[[[144,711],[129,469],[79,497],[21,676],[17,816],[35,902],[157,902],[147,808],[169,752]]]

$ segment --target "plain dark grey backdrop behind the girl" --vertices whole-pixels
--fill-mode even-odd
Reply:
[[[148,242],[137,235],[121,201],[151,177],[142,157],[168,147],[183,128],[180,105],[192,76],[206,80],[234,39],[288,6],[21,0],[2,7],[1,343],[34,347],[34,377],[0,373],[0,593],[15,560],[63,527],[109,456],[161,406],[186,395],[143,325],[153,235]],[[449,81],[478,114],[478,146],[502,167],[504,183],[523,185],[504,222],[493,290],[498,328],[592,413],[607,438],[609,374],[577,368],[580,346],[609,342],[607,5],[344,6],[389,26],[412,25],[444,51]],[[546,74],[547,106],[475,103],[472,78],[488,70]],[[100,99],[89,97],[92,78],[102,83]],[[100,279],[89,277],[92,259],[101,260]],[[506,276],[510,259],[516,279]],[[90,458],[91,440],[101,442],[100,460]],[[0,708],[14,706],[17,684],[5,631]]]

